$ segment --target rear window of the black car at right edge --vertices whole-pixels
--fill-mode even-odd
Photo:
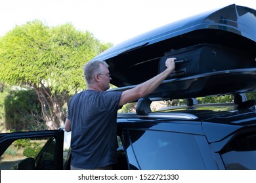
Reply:
[[[226,169],[256,169],[256,131],[234,138],[221,151]]]

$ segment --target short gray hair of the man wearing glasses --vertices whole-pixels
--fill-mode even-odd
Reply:
[[[88,63],[86,63],[83,66],[83,76],[85,77],[85,81],[87,82],[88,86],[93,84],[94,76],[97,73],[100,73],[100,64],[105,65],[106,67],[108,67],[108,64],[104,61],[101,61],[101,60],[92,60],[92,61],[89,61]]]

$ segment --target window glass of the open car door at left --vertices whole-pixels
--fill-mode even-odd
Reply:
[[[18,169],[24,159],[35,159],[49,138],[18,139],[5,150],[0,158],[0,169]]]

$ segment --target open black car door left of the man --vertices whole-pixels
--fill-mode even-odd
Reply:
[[[64,131],[0,134],[0,169],[63,169]]]

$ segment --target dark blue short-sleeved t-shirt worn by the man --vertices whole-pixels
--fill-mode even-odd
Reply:
[[[116,118],[121,92],[85,90],[72,97],[67,118],[71,121],[71,165],[96,169],[116,163]]]

